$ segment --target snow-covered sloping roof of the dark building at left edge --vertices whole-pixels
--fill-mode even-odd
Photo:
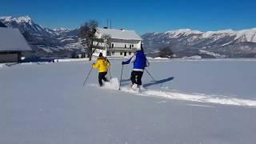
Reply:
[[[18,29],[0,27],[0,51],[30,50],[30,46]]]

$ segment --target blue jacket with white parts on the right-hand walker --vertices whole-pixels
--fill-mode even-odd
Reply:
[[[146,66],[149,65],[146,59],[146,55],[143,51],[138,51],[132,58],[128,61],[123,62],[123,64],[129,64],[130,62],[134,62],[134,70],[144,70]]]

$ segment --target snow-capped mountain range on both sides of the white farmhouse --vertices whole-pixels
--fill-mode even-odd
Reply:
[[[74,30],[41,26],[29,16],[14,18],[0,17],[0,22],[10,28],[28,32],[34,42],[30,42],[35,54],[49,57],[70,57],[74,51],[81,51],[79,27]],[[202,58],[255,58],[256,28],[245,30],[200,30],[180,29],[142,35],[143,45],[148,54],[155,55],[159,48],[169,46],[177,58],[199,55]],[[225,56],[225,57],[224,57]]]

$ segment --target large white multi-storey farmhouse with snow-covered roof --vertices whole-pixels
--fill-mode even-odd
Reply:
[[[96,36],[102,42],[94,42],[94,56],[131,57],[142,45],[142,38],[134,30],[98,28]]]

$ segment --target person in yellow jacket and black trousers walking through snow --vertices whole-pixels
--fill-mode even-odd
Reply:
[[[107,70],[110,67],[110,62],[107,58],[103,57],[102,53],[98,55],[97,62],[93,64],[94,69],[98,69],[98,83],[99,86],[103,86],[102,79],[105,82],[109,82],[108,79],[106,79]]]

